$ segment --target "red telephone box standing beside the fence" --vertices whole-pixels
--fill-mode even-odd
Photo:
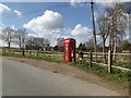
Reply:
[[[75,39],[67,38],[63,41],[63,62],[75,62]]]

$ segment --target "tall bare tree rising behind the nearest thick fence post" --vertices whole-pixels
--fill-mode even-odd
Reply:
[[[107,9],[107,15],[110,21],[110,33],[109,33],[109,47],[110,50],[116,52],[117,40],[122,39],[126,34],[126,22],[124,7],[121,3],[114,3],[112,8]],[[115,59],[115,56],[114,56]]]

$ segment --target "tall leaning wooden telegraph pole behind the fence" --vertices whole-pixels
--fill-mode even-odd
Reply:
[[[95,30],[95,21],[94,21],[94,2],[93,2],[93,0],[91,1],[91,8],[92,8],[92,22],[93,22],[94,51],[97,52],[96,30]],[[97,60],[97,54],[96,54],[96,60]]]

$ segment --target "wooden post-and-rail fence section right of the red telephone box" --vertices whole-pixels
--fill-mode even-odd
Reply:
[[[106,56],[107,63],[103,62],[103,56],[104,54]],[[95,61],[95,56],[97,56],[97,60],[100,57],[100,61],[99,60]],[[86,60],[86,58],[87,58],[86,62],[90,63],[91,68],[92,68],[93,64],[99,64],[99,65],[108,66],[108,73],[111,73],[112,68],[120,69],[120,70],[126,70],[126,71],[131,71],[131,69],[112,65],[112,63],[114,63],[112,56],[126,56],[128,58],[131,58],[131,53],[111,53],[111,51],[108,51],[108,53],[102,53],[102,52],[90,51],[90,52],[84,53],[84,59]],[[129,59],[127,61],[129,61]]]

